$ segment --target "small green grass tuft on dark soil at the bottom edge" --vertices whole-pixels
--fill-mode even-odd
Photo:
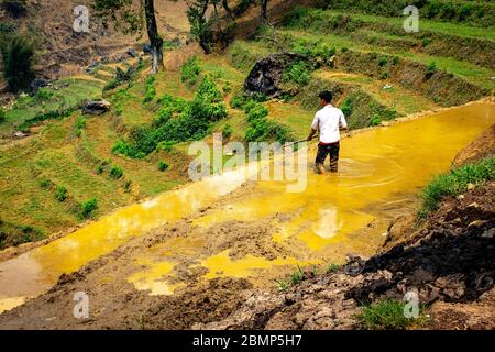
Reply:
[[[366,305],[358,320],[366,330],[405,330],[425,323],[426,316],[421,309],[418,319],[413,319],[405,317],[404,307],[404,302],[394,299]]]

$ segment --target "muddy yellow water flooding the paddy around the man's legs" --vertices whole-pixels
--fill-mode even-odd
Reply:
[[[310,120],[310,117],[308,117]],[[232,260],[229,250],[200,261],[205,278],[242,277],[278,265],[341,261],[346,253],[370,255],[383,240],[387,221],[414,205],[415,194],[433,175],[447,170],[453,156],[495,122],[495,105],[479,102],[387,128],[359,133],[342,141],[340,172],[312,173],[314,148],[308,160],[307,187],[287,193],[285,182],[258,182],[232,202],[222,202],[194,224],[208,228],[228,220],[260,221],[274,215],[274,245],[300,248],[299,254],[265,258],[246,254]],[[153,200],[109,215],[98,222],[16,258],[0,263],[0,311],[22,304],[69,273],[129,239],[172,223],[200,208],[215,206],[245,182],[245,170],[224,173],[166,193]],[[206,239],[207,240],[207,239]],[[204,241],[167,243],[167,251],[194,257]],[[164,255],[166,257],[166,255]],[[170,294],[180,283],[164,277],[178,262],[143,257],[128,278],[138,289]]]

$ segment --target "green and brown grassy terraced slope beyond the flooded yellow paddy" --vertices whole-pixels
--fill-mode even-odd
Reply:
[[[21,98],[0,124],[0,196],[6,200],[0,205],[0,230],[9,239],[3,245],[40,240],[80,223],[78,209],[91,198],[98,201],[95,217],[99,217],[187,182],[188,142],[138,160],[112,150],[133,130],[153,125],[162,97],[191,100],[206,76],[213,78],[229,106],[229,116],[209,128],[206,141],[212,142],[211,133],[226,130],[228,139],[245,141],[246,114],[230,105],[255,62],[271,53],[296,52],[307,57],[302,74],[309,79],[289,81],[292,95],[263,102],[268,120],[288,127],[294,139],[307,135],[318,107],[317,94],[323,88],[336,92],[334,103],[343,108],[352,129],[492,95],[493,26],[421,20],[420,32],[408,34],[403,21],[359,11],[296,9],[275,29],[238,40],[223,53],[206,56],[190,47],[170,52],[168,59],[176,67],[161,72],[152,84],[146,82],[144,66],[129,82],[103,89],[117,67],[136,65],[133,59],[102,64],[87,75],[62,79],[33,98]],[[194,55],[199,75],[188,85],[182,67]],[[145,102],[150,88],[154,95]],[[99,97],[111,101],[111,112],[81,117],[80,103]],[[19,130],[31,135],[12,141]],[[168,169],[161,172],[158,162]],[[113,168],[123,175],[112,177]],[[67,189],[67,201],[56,199],[61,187]]]

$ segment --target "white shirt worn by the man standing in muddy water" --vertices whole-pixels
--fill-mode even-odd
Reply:
[[[321,143],[336,143],[340,141],[340,128],[346,129],[348,122],[342,110],[328,105],[316,113],[311,128],[320,130]]]

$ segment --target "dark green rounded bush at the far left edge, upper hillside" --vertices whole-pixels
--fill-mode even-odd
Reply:
[[[35,78],[34,48],[23,36],[14,36],[1,47],[3,78],[9,89],[19,92],[29,88]]]

